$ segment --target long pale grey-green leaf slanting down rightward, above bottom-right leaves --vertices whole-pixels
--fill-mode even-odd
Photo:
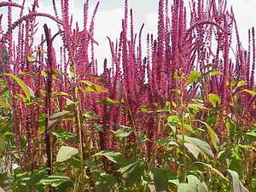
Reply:
[[[179,139],[183,138],[181,135],[177,135],[177,137]],[[208,154],[212,158],[214,157],[211,146],[208,143],[202,141],[201,139],[194,137],[185,137],[185,142],[194,144],[195,146],[200,148],[202,152]]]

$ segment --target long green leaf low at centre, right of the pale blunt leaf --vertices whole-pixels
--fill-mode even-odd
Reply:
[[[115,151],[100,151],[93,156],[103,156],[106,157],[108,160],[112,161],[113,163],[118,163],[118,164],[125,164],[127,161],[123,154],[120,152],[115,152]]]

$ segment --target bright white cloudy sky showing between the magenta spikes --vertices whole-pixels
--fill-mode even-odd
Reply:
[[[3,0],[0,0],[0,2],[1,1]],[[15,2],[22,3],[22,0],[16,0]],[[26,4],[29,5],[32,2],[33,0],[27,0]],[[78,20],[79,23],[82,23],[84,0],[71,0],[70,2],[72,3],[71,11],[74,15],[73,20]],[[96,2],[96,0],[90,0],[90,12],[93,11]],[[158,2],[158,0],[129,0],[129,7],[133,9],[135,32],[139,31],[143,22],[145,23],[143,29],[144,37],[146,37],[148,32],[156,32]],[[172,0],[169,2],[171,3]],[[184,2],[188,3],[189,0],[184,0]],[[228,3],[233,5],[241,41],[247,46],[247,29],[256,26],[256,0],[228,0]],[[53,14],[53,9],[50,4],[51,0],[39,0],[40,12]],[[6,10],[7,8],[0,8],[0,14],[4,13]],[[105,57],[109,57],[110,55],[108,39],[106,36],[113,40],[119,38],[121,20],[123,17],[124,0],[100,1],[100,7],[95,20],[95,39],[99,42],[99,46],[96,46],[96,58],[98,59],[99,65],[101,65]],[[4,16],[4,18],[7,19],[7,16]],[[17,15],[15,16],[15,19],[17,19]],[[49,20],[42,20],[40,23],[44,24],[44,22],[47,22],[49,26],[54,25],[53,22]],[[55,27],[52,26],[52,28],[54,30]]]

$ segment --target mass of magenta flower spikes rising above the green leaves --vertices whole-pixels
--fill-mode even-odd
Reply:
[[[21,99],[13,97],[14,117],[15,117],[15,137],[16,142],[20,143],[21,136],[26,136],[28,148],[26,152],[20,150],[20,160],[34,157],[35,164],[40,163],[40,150],[35,150],[33,143],[44,141],[44,136],[39,134],[40,125],[38,119],[42,113],[48,115],[59,112],[65,108],[66,98],[62,96],[58,106],[55,106],[55,97],[51,96],[54,92],[66,92],[69,99],[73,99],[73,85],[77,85],[79,80],[90,80],[96,82],[91,74],[97,75],[97,61],[94,56],[94,18],[96,9],[93,13],[88,26],[89,0],[84,3],[84,26],[80,30],[76,25],[73,29],[73,18],[69,15],[69,1],[61,0],[61,17],[58,15],[55,1],[53,7],[55,15],[38,13],[38,1],[32,4],[32,11],[28,15],[23,15],[23,5],[16,3],[0,3],[0,7],[9,7],[9,25],[7,32],[0,28],[1,42],[7,41],[8,44],[2,44],[8,49],[9,66],[4,67],[6,73],[18,75],[20,72],[34,72],[32,76],[20,75],[28,86],[35,90],[35,96],[44,98],[42,105],[45,108],[36,108],[32,104],[28,107]],[[12,6],[18,7],[20,19],[12,22]],[[232,61],[230,46],[232,40],[232,27],[236,20],[233,12],[226,10],[226,1],[219,0],[190,0],[190,23],[188,24],[187,9],[184,1],[174,0],[172,6],[169,6],[168,0],[159,1],[159,22],[157,37],[152,34],[147,35],[147,44],[142,43],[143,26],[137,34],[134,32],[134,19],[132,10],[130,11],[130,26],[128,25],[129,9],[128,1],[125,0],[125,18],[122,20],[122,32],[115,43],[108,38],[112,65],[108,68],[107,61],[104,61],[104,72],[102,73],[102,84],[108,88],[109,92],[102,95],[94,93],[84,93],[79,90],[80,110],[93,110],[102,117],[97,123],[102,124],[102,131],[88,138],[86,129],[83,129],[83,143],[95,143],[99,138],[101,149],[117,148],[117,143],[113,143],[113,137],[108,135],[108,130],[115,130],[117,125],[126,125],[133,127],[134,134],[146,135],[154,140],[160,137],[166,137],[165,133],[160,134],[160,122],[165,121],[165,117],[155,117],[153,114],[140,113],[140,108],[146,106],[155,110],[163,108],[166,101],[180,102],[180,96],[177,95],[177,89],[181,90],[183,102],[190,102],[192,98],[200,92],[203,99],[207,101],[209,93],[215,93],[221,97],[221,108],[223,112],[233,110],[229,102],[232,94],[227,84],[232,83],[232,79],[237,81],[246,80],[247,84],[240,89],[252,89],[254,84],[255,71],[255,35],[254,29],[249,31],[249,47],[245,50],[241,47],[238,32],[236,32],[237,50],[235,61]],[[51,35],[48,30],[48,37],[42,38],[42,43],[38,46],[38,52],[35,61],[31,61],[34,28],[37,25],[36,18],[44,16],[50,20],[55,20],[59,32]],[[3,15],[0,17],[3,17]],[[25,22],[25,24],[23,24]],[[0,25],[1,26],[1,25]],[[236,26],[236,25],[235,25]],[[130,32],[128,31],[130,27]],[[18,39],[15,44],[13,31],[18,28]],[[237,28],[237,27],[236,27]],[[236,29],[237,31],[237,29]],[[55,49],[52,41],[60,35],[63,41],[61,47],[61,61],[55,59]],[[216,41],[213,41],[213,38]],[[46,42],[50,43],[46,46]],[[212,44],[216,44],[216,49]],[[47,48],[47,55],[40,50]],[[143,58],[143,49],[147,49],[147,55]],[[214,48],[214,49],[213,49]],[[1,48],[3,49],[3,48]],[[0,61],[3,61],[3,55],[0,55]],[[209,67],[209,63],[213,63]],[[78,81],[75,82],[69,75],[59,75],[57,79],[52,79],[53,69],[67,74],[73,70],[78,74]],[[186,79],[177,79],[177,76],[189,76],[192,71],[198,70],[201,73],[207,73],[214,69],[220,72],[218,75],[207,76],[207,84],[186,84]],[[46,72],[46,77],[42,74]],[[241,75],[239,75],[241,74]],[[54,80],[54,83],[53,83]],[[227,83],[228,82],[228,83]],[[98,83],[98,82],[97,82]],[[82,86],[81,84],[79,84]],[[20,87],[9,80],[9,89],[13,96],[22,93]],[[41,90],[46,90],[46,94]],[[50,93],[50,94],[49,94]],[[99,104],[98,100],[108,96],[119,101],[119,105]],[[206,102],[205,101],[205,102]],[[249,101],[249,102],[245,102]],[[253,119],[255,113],[253,103],[255,96],[244,93],[241,99],[242,109],[237,117],[241,116],[247,120]],[[247,112],[247,113],[245,113]],[[219,123],[219,132],[225,134],[224,115]],[[78,128],[73,121],[67,121],[61,125],[67,131],[78,132]],[[90,129],[90,127],[87,127]],[[163,131],[165,132],[165,131]],[[89,139],[89,140],[88,140]],[[136,143],[133,137],[129,138],[131,143]],[[152,150],[152,145],[147,143],[148,151]],[[23,155],[22,155],[23,153]],[[26,154],[26,155],[24,155]],[[26,166],[26,165],[24,165]],[[37,166],[37,165],[32,165]]]

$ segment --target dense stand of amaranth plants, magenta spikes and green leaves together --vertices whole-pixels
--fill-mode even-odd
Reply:
[[[86,0],[78,26],[68,0],[52,1],[55,15],[39,13],[38,0],[28,15],[25,0],[0,2],[8,9],[0,15],[0,186],[256,191],[255,30],[244,48],[225,0],[189,2],[187,9],[183,0],[160,0],[157,37],[148,34],[143,44],[143,26],[134,32],[125,0],[122,32],[108,38],[112,61],[101,75],[99,3],[89,20]],[[12,9],[20,9],[19,20]],[[59,32],[45,24],[35,44],[40,17],[55,20]]]

